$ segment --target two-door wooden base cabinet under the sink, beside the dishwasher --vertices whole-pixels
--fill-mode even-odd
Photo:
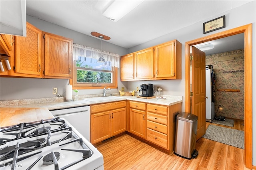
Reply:
[[[119,109],[115,109],[122,107]],[[99,108],[99,109],[97,109]],[[112,110],[109,110],[112,108]],[[106,111],[102,111],[106,109]],[[126,131],[126,101],[91,106],[91,143]]]

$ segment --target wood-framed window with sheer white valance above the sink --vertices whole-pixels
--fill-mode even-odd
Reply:
[[[104,57],[105,62],[98,62]],[[76,89],[117,88],[119,55],[74,44],[73,87]]]

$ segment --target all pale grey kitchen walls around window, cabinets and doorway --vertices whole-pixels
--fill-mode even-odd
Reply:
[[[191,12],[191,11],[190,11]],[[188,12],[189,14],[189,12]],[[210,32],[206,35],[203,34],[203,23],[219,16],[226,16],[226,28],[216,30],[214,32]],[[243,26],[246,24],[252,23],[253,30],[253,38],[252,38],[252,65],[256,65],[256,36],[255,36],[255,22],[256,22],[256,3],[255,1],[235,8],[233,10],[224,12],[219,14],[218,16],[214,16],[212,18],[206,18],[205,20],[195,23],[186,28],[182,28],[176,32],[167,34],[165,36],[156,38],[152,41],[143,43],[136,47],[132,47],[130,49],[125,49],[119,47],[117,45],[113,45],[107,42],[102,42],[102,50],[110,51],[113,53],[118,53],[120,55],[124,55],[127,53],[131,53],[134,51],[138,51],[140,49],[144,49],[147,47],[151,47],[160,43],[168,42],[170,40],[177,39],[182,43],[182,79],[181,80],[163,80],[163,81],[131,81],[131,82],[121,82],[120,81],[120,70],[118,71],[118,89],[112,89],[112,93],[118,93],[118,90],[121,87],[125,87],[125,90],[135,90],[136,87],[140,87],[143,83],[152,83],[157,86],[163,88],[163,92],[166,95],[181,95],[185,96],[185,42],[190,40],[195,40],[197,38],[202,38],[204,36],[208,36],[210,34],[216,34],[217,32],[222,32],[224,30],[230,30],[232,28],[236,28],[239,26]],[[43,20],[38,20],[31,16],[27,16],[27,21],[33,24],[34,26],[40,28],[43,31],[50,32],[53,34],[57,34],[60,36],[72,38],[74,43],[83,44],[86,46],[94,47],[100,49],[100,40],[96,38],[92,38],[90,36],[86,36],[84,34],[80,34],[78,32],[74,32],[72,30],[68,30],[66,28],[62,28],[60,26],[45,22]],[[255,103],[256,101],[256,67],[252,67],[252,101]],[[28,98],[40,98],[40,97],[54,97],[52,95],[52,87],[58,87],[58,91],[61,93],[64,92],[64,85],[66,85],[67,80],[49,80],[49,79],[23,79],[23,78],[0,78],[0,99],[8,100],[8,99],[28,99]],[[102,89],[100,90],[80,90],[81,95],[85,94],[100,94],[102,93]],[[73,94],[74,95],[74,94]],[[182,111],[184,111],[184,102],[182,105]],[[253,118],[253,165],[256,166],[256,105],[253,105],[252,108],[252,118]]]

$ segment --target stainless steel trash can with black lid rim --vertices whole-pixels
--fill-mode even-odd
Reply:
[[[191,113],[184,112],[177,115],[174,154],[186,159],[197,156],[197,120],[198,117]]]

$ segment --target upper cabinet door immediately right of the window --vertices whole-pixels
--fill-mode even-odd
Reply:
[[[134,54],[124,55],[120,59],[121,81],[134,79]]]

